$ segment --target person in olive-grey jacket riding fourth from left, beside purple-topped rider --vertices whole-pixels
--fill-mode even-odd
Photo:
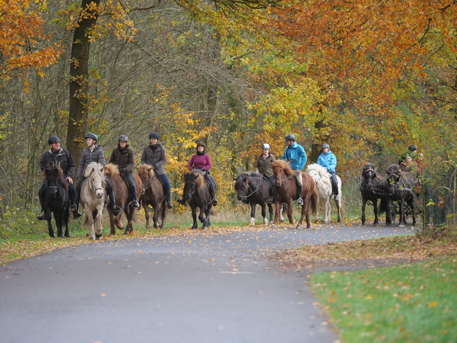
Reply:
[[[167,175],[165,175],[165,168],[163,164],[167,161],[167,155],[165,154],[165,149],[157,141],[159,140],[159,134],[157,132],[151,132],[149,134],[150,145],[146,146],[143,150],[143,155],[141,155],[141,164],[150,164],[154,168],[154,173],[161,183],[163,184],[163,191],[167,199],[168,209],[173,208],[172,195],[171,195],[171,185],[168,181]]]

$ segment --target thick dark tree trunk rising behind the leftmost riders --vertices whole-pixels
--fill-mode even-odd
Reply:
[[[70,109],[69,123],[66,134],[66,148],[70,150],[75,163],[81,157],[81,139],[84,137],[87,127],[87,81],[89,78],[89,51],[91,43],[87,30],[92,28],[98,19],[96,13],[87,11],[90,3],[100,4],[100,0],[82,0],[81,14],[78,25],[73,33],[70,61]],[[87,15],[89,13],[89,15]]]

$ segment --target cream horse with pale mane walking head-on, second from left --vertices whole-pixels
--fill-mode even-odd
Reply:
[[[100,240],[102,237],[103,208],[107,203],[105,186],[107,181],[103,173],[103,164],[91,162],[84,170],[84,182],[80,190],[80,202],[86,211],[84,226],[89,227],[89,239]],[[94,232],[94,223],[96,231]]]

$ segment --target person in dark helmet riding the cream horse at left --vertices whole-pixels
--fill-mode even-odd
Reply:
[[[81,157],[80,157],[80,164],[78,165],[78,173],[76,173],[76,177],[78,177],[78,184],[76,185],[76,190],[78,191],[78,199],[76,200],[76,211],[78,211],[78,206],[80,204],[80,193],[81,193],[81,186],[82,183],[84,182],[84,170],[86,170],[86,167],[89,165],[91,162],[98,162],[105,166],[106,161],[105,161],[105,155],[103,154],[103,150],[101,146],[97,145],[98,142],[98,137],[96,134],[89,133],[86,134],[84,137],[86,139],[86,144],[87,148],[85,148],[82,151]],[[106,179],[106,177],[105,177]],[[120,212],[120,207],[116,205],[116,197],[114,197],[114,191],[113,191],[113,186],[111,185],[111,182],[109,182],[109,179],[106,179],[107,181],[107,193],[109,196],[109,200],[113,204],[113,214],[114,216],[117,216]]]

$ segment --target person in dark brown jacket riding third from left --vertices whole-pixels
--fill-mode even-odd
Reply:
[[[135,180],[133,177],[134,158],[133,151],[130,150],[127,142],[129,138],[125,134],[121,134],[118,138],[118,147],[113,150],[109,163],[116,164],[119,168],[120,177],[123,178],[127,186],[129,185],[130,198],[133,207],[139,207],[136,200]]]

